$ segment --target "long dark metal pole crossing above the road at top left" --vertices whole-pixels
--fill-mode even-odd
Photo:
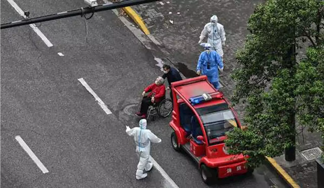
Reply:
[[[89,14],[89,13],[93,14],[95,12],[101,12],[101,11],[105,11],[105,10],[122,8],[122,7],[126,7],[126,6],[140,5],[140,4],[144,4],[144,3],[151,3],[151,2],[155,2],[155,1],[158,1],[158,0],[127,0],[127,1],[122,1],[119,3],[110,3],[110,4],[103,4],[103,5],[98,5],[98,6],[94,6],[94,7],[80,8],[80,9],[65,11],[65,12],[56,13],[56,14],[52,14],[52,15],[45,15],[45,16],[40,16],[40,17],[36,17],[36,18],[18,20],[18,21],[6,23],[6,24],[0,24],[0,29],[17,27],[17,26],[21,26],[21,25],[35,24],[35,23],[46,22],[46,21],[50,21],[50,20],[57,20],[57,19],[61,19],[61,18],[67,18],[67,17],[72,17],[72,16],[78,16],[78,15],[84,16],[85,14]]]

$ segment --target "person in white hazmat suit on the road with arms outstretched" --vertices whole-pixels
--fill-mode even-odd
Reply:
[[[140,158],[140,161],[137,164],[136,170],[136,179],[140,180],[147,177],[147,173],[143,173],[145,170],[149,172],[153,163],[150,160],[150,150],[151,150],[151,142],[160,143],[161,139],[158,138],[155,134],[153,134],[149,129],[146,129],[147,121],[146,119],[141,119],[139,122],[139,127],[129,128],[126,126],[126,133],[129,136],[134,137],[134,141],[136,143],[135,152]]]

